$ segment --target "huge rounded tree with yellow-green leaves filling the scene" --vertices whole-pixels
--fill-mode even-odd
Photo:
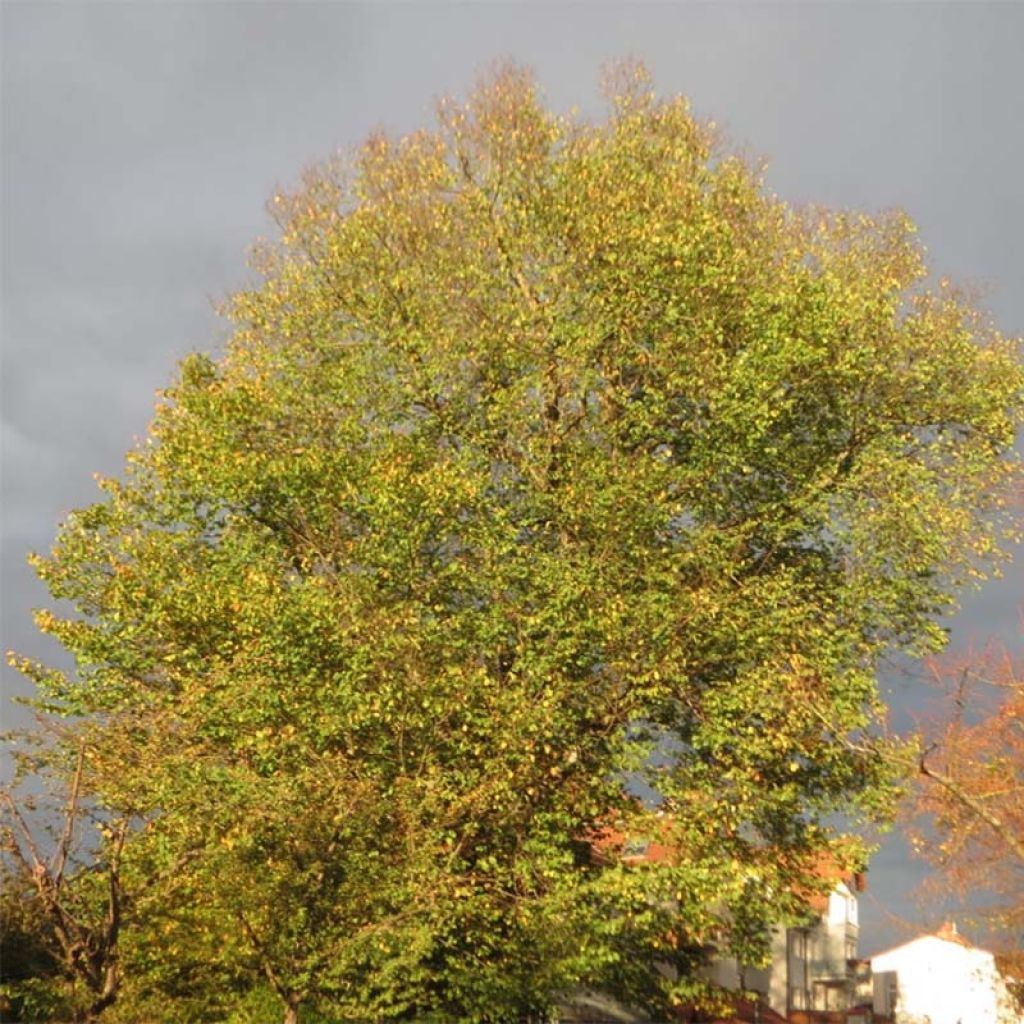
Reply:
[[[24,668],[287,1019],[665,1010],[757,958],[888,806],[880,657],[993,553],[1014,344],[903,215],[608,96],[506,69],[275,196],[226,352],[38,560],[79,668]]]

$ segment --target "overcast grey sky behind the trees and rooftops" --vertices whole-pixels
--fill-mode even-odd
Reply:
[[[902,207],[931,265],[1024,332],[1024,4],[18,3],[2,16],[3,646],[50,656],[25,566],[95,499],[155,389],[216,350],[214,304],[247,280],[264,204],[369,131],[429,121],[495,58],[552,105],[596,109],[602,63],[644,59],[795,202]],[[954,638],[1018,650],[1019,567]],[[8,694],[24,693],[16,676]],[[921,690],[893,678],[897,723]],[[6,723],[20,721],[4,706]],[[890,840],[861,900],[862,952],[934,924]]]

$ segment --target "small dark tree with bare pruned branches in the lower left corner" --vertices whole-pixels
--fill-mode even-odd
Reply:
[[[194,961],[207,953],[191,939],[187,951],[161,948],[153,955],[155,945],[166,944],[162,925],[186,898],[182,880],[195,850],[179,847],[169,855],[152,818],[117,785],[104,784],[111,763],[124,771],[119,752],[131,741],[104,735],[100,750],[81,723],[48,725],[28,738],[11,748],[15,775],[0,787],[7,883],[0,992],[18,1017],[92,1024],[117,1017],[112,1010],[126,987],[130,1001],[140,1001],[143,993],[130,983],[138,975],[148,974],[147,986],[159,994],[169,959],[184,962],[180,974],[189,953]],[[236,979],[230,972],[205,974],[210,992],[193,1001],[210,1009],[211,994]],[[224,1000],[213,1002],[219,1009]]]

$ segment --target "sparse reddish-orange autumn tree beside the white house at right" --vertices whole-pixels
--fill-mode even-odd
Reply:
[[[944,716],[923,739],[915,848],[981,903],[1011,948],[1024,937],[1024,675],[1004,646],[933,666]]]

